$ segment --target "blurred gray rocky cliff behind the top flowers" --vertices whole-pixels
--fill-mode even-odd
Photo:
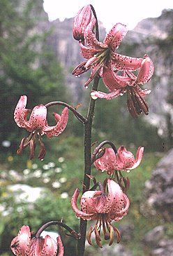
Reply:
[[[147,53],[153,60],[155,66],[153,79],[145,86],[152,90],[151,94],[146,97],[150,108],[150,114],[146,119],[158,127],[158,133],[161,136],[168,137],[165,142],[167,148],[172,147],[170,141],[173,137],[172,24],[173,10],[164,10],[158,18],[144,19],[137,24],[135,29],[128,32],[117,50],[119,53],[137,58]],[[83,74],[80,79],[71,74],[73,68],[83,60],[80,56],[78,42],[73,39],[72,35],[73,18],[63,22],[59,19],[47,22],[42,29],[44,27],[46,29],[53,27],[48,44],[52,46],[57,60],[61,62],[74,102],[81,102],[86,74]],[[100,38],[103,39],[105,34],[105,29],[100,22]]]

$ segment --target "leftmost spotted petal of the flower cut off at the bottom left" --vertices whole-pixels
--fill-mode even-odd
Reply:
[[[13,238],[10,247],[14,255],[29,256],[29,243],[31,241],[31,232],[28,226],[22,226],[19,233]]]

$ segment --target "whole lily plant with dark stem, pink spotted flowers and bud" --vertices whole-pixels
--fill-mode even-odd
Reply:
[[[11,250],[14,255],[64,255],[66,248],[63,248],[63,241],[61,241],[60,236],[57,236],[57,241],[54,241],[50,236],[45,236],[45,238],[41,236],[43,230],[50,225],[66,229],[70,232],[70,236],[77,240],[74,256],[84,256],[86,240],[89,245],[93,245],[91,235],[95,236],[95,243],[100,248],[103,248],[103,243],[101,243],[103,238],[108,241],[109,245],[112,245],[115,234],[116,242],[119,243],[121,235],[115,227],[115,223],[127,215],[130,206],[130,200],[126,195],[130,186],[130,179],[123,177],[123,172],[129,173],[130,170],[140,165],[144,147],[138,147],[136,159],[133,153],[127,151],[126,147],[121,146],[116,150],[115,145],[108,140],[100,142],[92,152],[91,132],[98,97],[110,100],[126,93],[128,110],[133,118],[137,118],[142,112],[149,114],[149,108],[144,97],[151,93],[151,90],[142,89],[140,85],[151,80],[153,62],[146,54],[143,58],[133,58],[116,53],[116,49],[119,48],[127,32],[126,25],[116,23],[107,33],[103,42],[100,42],[98,20],[91,5],[84,6],[74,19],[73,37],[79,42],[81,55],[85,60],[75,67],[73,74],[79,76],[91,70],[89,79],[84,83],[84,86],[89,86],[89,83],[93,82],[86,117],[77,111],[77,107],[74,108],[61,101],[38,105],[31,111],[26,108],[27,95],[20,97],[15,107],[14,119],[17,126],[25,128],[30,135],[22,139],[17,154],[22,155],[23,150],[29,148],[29,159],[33,159],[38,137],[40,143],[38,159],[43,160],[46,149],[42,136],[46,135],[51,138],[64,132],[68,123],[68,110],[70,110],[84,125],[84,179],[80,207],[77,206],[80,189],[75,189],[71,199],[73,211],[76,217],[80,218],[79,229],[75,231],[59,220],[43,224],[36,233],[30,231],[28,226],[22,226],[11,242]],[[103,79],[103,83],[110,93],[98,91],[100,79]],[[55,105],[61,105],[64,108],[61,114],[53,113],[55,125],[49,126],[47,109]],[[105,171],[107,177],[103,182],[97,182],[93,173],[91,175],[91,170],[93,173],[98,170],[100,175]],[[90,185],[91,180],[93,182],[92,187]],[[94,224],[91,224],[87,231],[87,222],[92,220]]]

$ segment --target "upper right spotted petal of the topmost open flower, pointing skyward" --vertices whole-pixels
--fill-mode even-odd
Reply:
[[[121,23],[116,23],[110,32],[105,36],[103,43],[107,44],[112,50],[116,50],[119,47],[119,44],[126,36],[128,29],[126,25]]]

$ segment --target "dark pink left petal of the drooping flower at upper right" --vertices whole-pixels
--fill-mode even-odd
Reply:
[[[117,75],[116,72],[108,67],[104,67],[103,69],[103,82],[110,91],[130,86],[134,81],[134,79],[128,76]]]

